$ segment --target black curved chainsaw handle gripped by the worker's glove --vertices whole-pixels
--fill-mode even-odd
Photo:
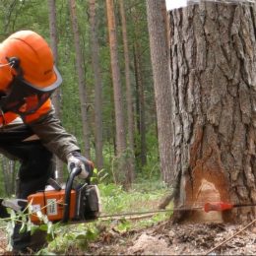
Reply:
[[[70,172],[68,177],[66,188],[65,188],[65,200],[64,200],[64,213],[62,218],[62,223],[66,224],[69,221],[69,213],[70,213],[70,198],[71,198],[71,190],[73,181],[76,176],[78,176],[82,171],[81,167],[74,167]]]

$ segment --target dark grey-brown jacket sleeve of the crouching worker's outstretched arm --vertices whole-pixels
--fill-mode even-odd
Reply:
[[[54,116],[54,112],[51,108],[47,113],[27,124],[50,152],[67,162],[67,155],[79,151],[80,148],[76,138],[66,132],[60,120]]]

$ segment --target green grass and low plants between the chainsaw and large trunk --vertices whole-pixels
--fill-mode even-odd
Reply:
[[[137,186],[137,189],[129,192],[124,191],[121,186],[115,184],[99,184],[99,191],[102,202],[101,215],[116,215],[127,212],[143,212],[156,209],[156,202],[166,192],[167,188],[160,182],[152,183],[147,190],[145,185]],[[59,225],[55,228],[55,239],[47,248],[40,250],[37,255],[57,255],[59,254],[80,254],[85,253],[91,241],[95,241],[100,236],[101,229],[115,229],[123,233],[134,228],[141,228],[157,224],[169,218],[169,214],[156,214],[147,220],[132,222],[126,218],[118,221],[100,221],[90,224]],[[54,224],[55,225],[55,224]]]

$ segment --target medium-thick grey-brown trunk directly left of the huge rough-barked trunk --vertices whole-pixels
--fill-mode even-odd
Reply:
[[[169,58],[167,54],[166,26],[162,15],[165,0],[147,0],[151,59],[153,66],[155,100],[160,147],[160,171],[166,183],[172,180],[171,96]],[[166,9],[165,9],[166,10]]]

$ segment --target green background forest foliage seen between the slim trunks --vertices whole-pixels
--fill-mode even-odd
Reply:
[[[89,2],[76,1],[77,15],[80,31],[80,43],[85,59],[84,68],[86,71],[86,87],[88,92],[88,114],[91,129],[92,159],[95,160],[95,118],[94,118],[94,98],[95,98],[95,79],[91,60],[91,37],[89,32]],[[83,125],[81,116],[81,105],[78,89],[78,75],[75,61],[75,49],[73,32],[70,23],[68,1],[56,1],[57,9],[57,35],[58,35],[58,59],[57,67],[61,72],[63,84],[60,88],[61,121],[65,129],[75,135],[79,146],[84,152]],[[135,69],[134,69],[134,43],[141,45],[141,58],[143,81],[145,87],[146,102],[146,125],[147,125],[147,160],[146,166],[137,161],[136,175],[141,179],[158,178],[160,176],[159,153],[156,132],[156,114],[153,83],[151,76],[151,61],[149,48],[149,35],[147,28],[147,15],[145,2],[140,0],[125,1],[128,43],[130,49],[130,70],[131,82],[133,86],[134,106],[136,109],[135,98],[137,97]],[[126,107],[125,85],[124,85],[124,58],[121,38],[121,23],[118,16],[118,2],[116,2],[117,31],[119,45],[119,65],[121,69],[121,80],[123,87],[123,103]],[[39,32],[49,41],[49,17],[47,1],[0,1],[0,40],[3,40],[19,30],[33,30]],[[110,54],[108,43],[108,32],[105,15],[105,2],[96,3],[96,21],[99,43],[99,61],[102,76],[102,119],[103,119],[103,162],[105,172],[108,173],[105,181],[113,182],[114,171],[113,163],[115,158],[115,124],[113,107],[113,89],[110,70]],[[139,36],[135,34],[136,30]],[[126,108],[125,108],[126,109]],[[135,112],[139,115],[139,112]],[[136,119],[136,116],[135,116]],[[136,150],[140,151],[140,141],[135,140]],[[123,158],[122,158],[123,159]],[[124,157],[126,160],[126,157]],[[118,160],[119,161],[119,160]],[[121,160],[122,161],[122,160]],[[117,175],[117,173],[115,173]],[[0,184],[2,187],[2,184]],[[0,191],[1,192],[1,191]],[[3,194],[4,195],[4,190]]]

